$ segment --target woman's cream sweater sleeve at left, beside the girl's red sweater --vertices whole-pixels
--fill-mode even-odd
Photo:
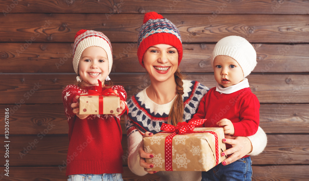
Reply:
[[[130,119],[127,115],[125,115],[125,124],[128,126],[130,125]],[[143,176],[146,175],[147,172],[144,170],[143,167],[139,164],[139,154],[138,149],[143,140],[142,134],[136,129],[131,131],[128,135],[128,166],[129,169],[136,175]]]

